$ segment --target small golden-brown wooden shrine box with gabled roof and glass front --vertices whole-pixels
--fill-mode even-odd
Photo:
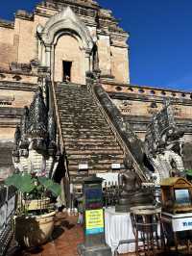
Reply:
[[[182,177],[164,179],[160,185],[162,210],[170,214],[192,212],[192,184]]]

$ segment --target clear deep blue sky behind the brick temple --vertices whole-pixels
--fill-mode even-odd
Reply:
[[[0,17],[12,19],[17,9],[33,10],[39,1],[4,1]],[[132,84],[192,91],[191,0],[98,2],[131,34]]]

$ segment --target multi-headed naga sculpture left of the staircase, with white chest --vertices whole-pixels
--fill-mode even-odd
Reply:
[[[50,175],[58,165],[56,122],[47,98],[46,91],[43,96],[38,87],[30,108],[24,108],[20,127],[16,127],[12,156],[20,171],[44,171]]]

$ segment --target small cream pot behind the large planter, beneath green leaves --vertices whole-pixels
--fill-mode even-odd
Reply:
[[[50,198],[48,197],[38,200],[23,200],[23,205],[28,211],[44,210],[49,207],[49,204]]]

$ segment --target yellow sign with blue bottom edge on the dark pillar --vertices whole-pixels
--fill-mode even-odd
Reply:
[[[85,211],[85,233],[98,234],[104,232],[103,209]]]

